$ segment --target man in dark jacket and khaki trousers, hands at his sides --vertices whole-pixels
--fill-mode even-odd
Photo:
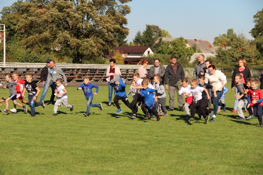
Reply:
[[[184,75],[184,69],[181,64],[177,63],[177,57],[171,56],[171,64],[169,64],[165,69],[165,89],[168,90],[169,94],[169,109],[168,111],[174,110],[174,93],[177,91],[177,103],[179,111],[184,111],[183,109],[183,96],[179,95],[179,91],[182,87],[182,83],[180,82]],[[169,80],[169,89],[167,86]]]

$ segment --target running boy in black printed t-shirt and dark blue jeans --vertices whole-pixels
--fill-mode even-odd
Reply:
[[[27,76],[26,76],[27,82],[25,82],[25,88],[23,90],[22,96],[25,95],[25,91],[27,90],[28,100],[30,102],[29,106],[31,109],[31,117],[35,117],[36,116],[35,107],[42,106],[43,108],[45,108],[45,104],[44,104],[44,101],[36,102],[37,96],[39,95],[39,92],[40,92],[40,89],[39,89],[39,87],[37,87],[37,84],[34,81],[32,81],[32,78],[33,78],[32,74],[27,74]]]

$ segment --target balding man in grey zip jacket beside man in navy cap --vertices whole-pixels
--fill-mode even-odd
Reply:
[[[52,95],[50,97],[50,103],[51,104],[54,104],[54,98],[55,98],[55,90],[57,89],[56,86],[56,79],[58,78],[62,78],[63,77],[63,80],[65,82],[65,87],[68,86],[67,84],[67,78],[64,74],[64,72],[62,71],[62,69],[58,66],[56,66],[56,62],[51,60],[50,61],[50,67],[49,67],[49,74],[48,74],[48,78],[47,78],[47,88],[49,88],[49,82],[52,82]]]

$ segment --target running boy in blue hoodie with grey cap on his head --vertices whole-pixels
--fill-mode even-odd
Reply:
[[[116,90],[116,95],[113,99],[114,104],[118,108],[116,111],[116,114],[119,114],[122,112],[122,109],[120,108],[119,100],[121,100],[128,108],[131,109],[131,104],[128,100],[128,97],[125,91],[126,84],[123,83],[122,79],[120,78],[120,75],[115,74],[111,81],[113,81],[113,84]]]

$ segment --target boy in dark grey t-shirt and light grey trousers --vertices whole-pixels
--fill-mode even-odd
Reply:
[[[239,93],[239,96],[237,97],[238,99],[238,107],[237,107],[237,111],[238,111],[238,115],[241,117],[241,119],[239,120],[246,120],[244,113],[242,111],[242,107],[247,106],[248,104],[248,99],[247,99],[247,91],[246,89],[247,86],[241,82],[242,76],[240,74],[236,74],[235,76],[235,81],[236,81],[236,85],[235,87],[238,89],[238,92],[234,95],[234,97],[236,97]]]

